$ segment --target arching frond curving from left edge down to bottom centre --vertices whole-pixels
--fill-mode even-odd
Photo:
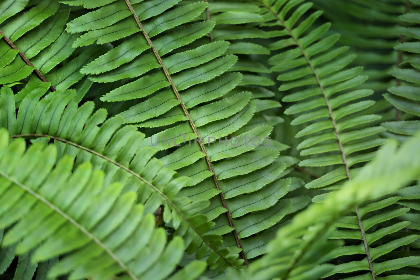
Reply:
[[[230,264],[236,259],[235,255],[228,256],[228,251],[218,250],[220,236],[208,233],[213,222],[200,212],[209,202],[193,202],[179,194],[189,178],[177,177],[152,158],[156,149],[139,148],[144,134],[136,127],[122,126],[120,116],[105,121],[106,110],[94,112],[91,101],[78,107],[81,97],[75,97],[75,90],[52,92],[42,99],[43,91],[33,91],[21,102],[17,116],[11,89],[3,87],[0,93],[0,124],[12,138],[35,138],[34,142],[54,139],[60,157],[76,157],[76,165],[91,162],[95,169],[106,172],[106,183],[120,181],[125,183],[122,193],[136,191],[136,201],[144,204],[145,212],[153,213],[163,205],[165,222],[184,237],[186,248],[212,251],[213,262]]]

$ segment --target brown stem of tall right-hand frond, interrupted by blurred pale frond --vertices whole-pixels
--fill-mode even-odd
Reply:
[[[319,86],[319,88],[320,88],[320,90],[321,90],[321,93],[323,94],[323,97],[324,97],[324,101],[325,101],[325,105],[327,106],[327,108],[328,108],[328,113],[329,113],[329,115],[330,115],[330,118],[331,118],[331,121],[332,121],[332,123],[333,123],[333,128],[334,128],[334,132],[335,132],[335,134],[336,134],[336,137],[337,137],[337,141],[338,141],[338,144],[339,144],[339,148],[340,148],[340,152],[341,152],[341,157],[342,157],[342,159],[343,159],[343,163],[344,163],[344,166],[345,166],[345,168],[346,168],[346,175],[347,175],[347,178],[349,179],[349,181],[350,180],[352,180],[352,177],[350,176],[350,171],[349,171],[349,165],[347,164],[347,160],[346,160],[346,154],[345,154],[345,152],[344,152],[344,149],[343,149],[343,144],[342,144],[342,142],[341,142],[341,139],[340,139],[340,134],[339,134],[339,130],[338,130],[338,128],[337,128],[337,125],[336,125],[336,120],[334,119],[334,116],[333,116],[333,110],[331,109],[331,106],[330,106],[330,104],[329,104],[329,102],[328,102],[328,97],[327,97],[327,95],[325,94],[325,90],[324,90],[324,86],[322,85],[322,83],[321,83],[321,81],[320,81],[320,78],[319,78],[319,76],[318,76],[318,73],[316,73],[316,71],[315,71],[315,68],[314,68],[314,66],[312,65],[312,63],[311,63],[311,61],[310,61],[310,59],[309,59],[309,57],[307,56],[307,54],[304,52],[304,50],[303,50],[303,47],[302,47],[302,45],[299,43],[299,40],[293,35],[293,33],[292,33],[292,31],[291,31],[291,29],[289,28],[289,27],[287,27],[287,25],[286,25],[286,23],[278,16],[278,14],[277,13],[275,13],[273,10],[271,10],[271,8],[270,7],[268,7],[267,5],[265,5],[263,2],[262,2],[262,0],[260,0],[260,2],[262,3],[262,5],[265,7],[265,8],[267,8],[275,17],[276,17],[276,19],[284,26],[284,29],[286,29],[286,31],[288,31],[288,33],[289,33],[289,35],[290,35],[290,37],[294,40],[294,42],[295,42],[295,44],[297,45],[297,47],[299,47],[299,50],[300,50],[300,52],[302,53],[302,55],[304,56],[304,58],[305,58],[305,60],[306,60],[306,62],[307,62],[307,64],[309,65],[309,67],[310,67],[310,69],[311,69],[311,71],[312,71],[312,73],[313,73],[313,75],[315,76],[315,79],[316,79],[316,81],[317,81],[317,84],[318,84],[318,86]],[[361,220],[361,217],[360,217],[360,215],[359,215],[359,209],[357,208],[357,205],[356,205],[356,207],[355,207],[355,211],[356,211],[356,215],[357,215],[357,221],[358,221],[358,223],[359,223],[359,228],[360,228],[360,233],[361,233],[361,235],[362,235],[362,239],[363,239],[363,244],[365,245],[365,251],[366,251],[366,256],[367,256],[367,261],[369,262],[369,268],[370,268],[370,272],[372,273],[372,278],[373,278],[373,280],[376,280],[376,277],[375,277],[375,270],[373,269],[373,264],[372,264],[372,259],[371,259],[371,257],[370,257],[370,253],[369,253],[369,248],[368,248],[368,246],[367,246],[367,241],[366,241],[366,238],[365,238],[365,230],[363,229],[363,226],[362,226],[362,220]]]

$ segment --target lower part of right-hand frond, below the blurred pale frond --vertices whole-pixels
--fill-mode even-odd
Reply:
[[[357,214],[360,215],[365,230],[363,236],[360,235],[360,226],[355,212],[337,220],[335,226],[339,230],[330,238],[345,239],[349,241],[348,244],[355,243],[357,240],[358,244],[342,246],[331,251],[330,257],[337,259],[340,264],[325,276],[344,273],[341,276],[344,279],[345,273],[367,270],[368,272],[359,276],[360,279],[381,279],[377,275],[395,273],[394,270],[407,266],[415,267],[419,263],[420,259],[416,252],[407,251],[405,247],[415,243],[419,236],[414,233],[402,233],[410,227],[411,222],[404,217],[410,209],[401,208],[397,204],[399,199],[401,197],[391,196],[359,205]],[[399,249],[402,247],[404,251]],[[368,255],[366,251],[369,251]],[[347,256],[359,254],[367,257],[358,261],[346,261]],[[412,279],[411,277],[413,276],[406,275],[399,279]]]

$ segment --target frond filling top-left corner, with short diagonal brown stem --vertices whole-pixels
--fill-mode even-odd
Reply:
[[[102,48],[93,47],[71,57],[71,43],[78,36],[63,30],[69,9],[60,9],[53,0],[35,5],[3,1],[0,5],[0,84],[22,84],[33,73],[17,102],[33,89],[68,89],[85,76],[79,69],[102,54]],[[66,65],[56,67],[65,60]]]

